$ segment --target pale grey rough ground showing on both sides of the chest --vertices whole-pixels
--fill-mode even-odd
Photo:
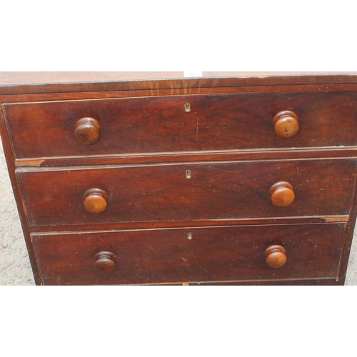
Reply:
[[[35,285],[0,140],[0,285]],[[357,284],[357,230],[345,285]]]

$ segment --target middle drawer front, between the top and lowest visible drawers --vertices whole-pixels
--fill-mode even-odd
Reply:
[[[356,161],[24,169],[17,175],[30,226],[332,216],[349,214]],[[281,181],[295,196],[283,207],[272,203],[271,193]],[[90,199],[105,203],[104,211],[85,208]]]

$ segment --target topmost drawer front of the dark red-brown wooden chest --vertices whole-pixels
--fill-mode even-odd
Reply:
[[[16,159],[357,144],[356,92],[57,101],[4,104],[4,111]],[[281,111],[293,111],[300,125],[288,139],[274,130]],[[97,123],[76,126],[87,117]],[[81,144],[75,132],[98,141]]]

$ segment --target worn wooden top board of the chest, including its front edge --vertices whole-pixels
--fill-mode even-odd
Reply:
[[[357,72],[0,72],[0,94],[353,83]]]

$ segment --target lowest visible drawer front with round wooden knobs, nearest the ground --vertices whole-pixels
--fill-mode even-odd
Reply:
[[[336,278],[344,223],[31,235],[45,285]],[[282,264],[272,268],[269,261]],[[280,262],[280,263],[279,263]]]

